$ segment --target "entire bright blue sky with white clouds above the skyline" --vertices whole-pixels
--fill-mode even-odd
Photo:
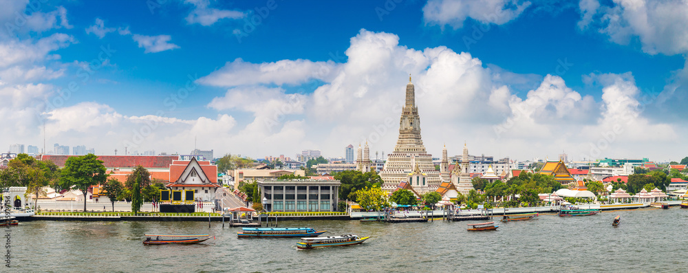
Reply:
[[[413,74],[436,156],[685,156],[678,1],[0,4],[6,145],[389,152]]]

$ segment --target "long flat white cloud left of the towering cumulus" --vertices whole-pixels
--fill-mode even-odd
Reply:
[[[241,58],[198,80],[204,85],[233,87],[255,84],[301,84],[317,79],[330,81],[337,74],[336,63],[282,60],[274,63],[246,63]]]

